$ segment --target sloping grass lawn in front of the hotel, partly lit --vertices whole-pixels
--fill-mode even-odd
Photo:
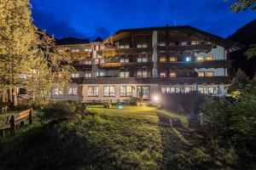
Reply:
[[[170,127],[154,107],[91,105],[96,116],[36,123],[2,139],[0,169],[208,169],[230,166],[199,133]],[[184,116],[160,111],[169,116]],[[220,150],[222,151],[222,150]],[[231,161],[231,159],[230,159]]]

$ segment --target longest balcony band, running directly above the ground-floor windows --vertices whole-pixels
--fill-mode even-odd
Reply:
[[[119,77],[98,77],[98,78],[73,78],[78,84],[228,84],[231,77],[177,77],[177,78],[119,78]]]

